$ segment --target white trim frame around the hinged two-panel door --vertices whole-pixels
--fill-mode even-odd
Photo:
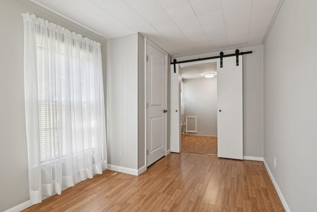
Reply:
[[[144,57],[145,57],[145,60],[144,60],[144,95],[145,95],[145,101],[144,101],[144,117],[145,117],[145,129],[144,129],[144,141],[145,141],[145,148],[144,148],[144,157],[145,157],[145,170],[147,170],[147,45],[151,45],[152,47],[156,48],[159,52],[161,52],[162,54],[165,55],[165,60],[166,60],[166,63],[165,63],[165,104],[166,104],[166,110],[167,110],[167,106],[168,106],[168,102],[167,102],[167,73],[168,73],[168,54],[162,50],[158,45],[156,45],[154,42],[152,42],[150,39],[148,38],[145,38],[144,39]],[[165,156],[168,154],[168,151],[167,151],[167,114],[169,113],[170,111],[167,111],[167,113],[165,113]]]

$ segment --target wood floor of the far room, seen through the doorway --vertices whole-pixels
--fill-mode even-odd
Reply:
[[[217,137],[182,134],[181,142],[182,151],[217,155]]]

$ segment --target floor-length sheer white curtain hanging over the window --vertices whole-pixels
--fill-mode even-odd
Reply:
[[[33,14],[22,16],[29,187],[36,204],[106,169],[101,45]]]

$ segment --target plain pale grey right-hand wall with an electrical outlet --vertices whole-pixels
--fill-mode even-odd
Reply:
[[[264,43],[264,159],[293,212],[316,211],[316,11],[284,0]]]

